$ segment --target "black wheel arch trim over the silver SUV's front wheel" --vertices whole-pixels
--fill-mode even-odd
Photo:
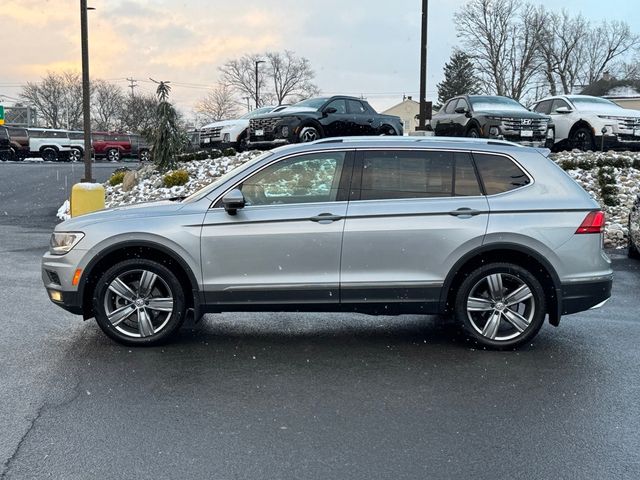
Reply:
[[[196,319],[198,318],[201,304],[200,289],[198,280],[187,262],[177,252],[164,245],[148,240],[132,240],[119,242],[105,248],[92,258],[83,270],[78,295],[82,299],[85,320],[94,316],[92,297],[100,275],[115,263],[131,258],[145,258],[171,265],[172,272],[176,274],[185,290],[188,289],[191,293],[185,291],[187,308],[193,308],[194,316]]]

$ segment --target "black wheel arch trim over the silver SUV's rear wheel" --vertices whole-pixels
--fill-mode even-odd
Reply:
[[[551,263],[535,250],[516,243],[495,243],[478,247],[464,255],[450,270],[444,281],[440,305],[443,313],[451,312],[455,295],[464,279],[476,268],[495,262],[508,262],[526,268],[542,285],[547,302],[549,323],[557,326],[561,315],[560,278]]]

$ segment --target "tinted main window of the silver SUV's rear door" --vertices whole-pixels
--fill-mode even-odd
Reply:
[[[452,152],[365,152],[361,200],[449,197]]]

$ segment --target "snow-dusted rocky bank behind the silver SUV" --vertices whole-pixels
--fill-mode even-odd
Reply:
[[[243,152],[231,157],[220,157],[207,160],[194,160],[181,162],[178,169],[189,172],[189,182],[184,186],[165,188],[162,185],[164,174],[158,173],[153,165],[144,165],[137,171],[137,184],[129,191],[125,191],[122,184],[112,187],[105,183],[106,207],[130,205],[132,203],[163,200],[171,197],[190,195],[202,187],[212,183],[246,161],[254,158],[262,152]],[[560,152],[552,155],[552,159],[558,163],[563,161],[588,162],[596,165],[601,159],[623,159],[631,163],[640,161],[640,152]],[[583,165],[584,166],[584,165]],[[637,194],[640,193],[640,170],[635,168],[615,168],[618,186],[618,200],[620,204],[615,207],[603,205],[597,181],[597,168],[575,168],[567,172],[589,194],[603,206],[607,215],[605,228],[605,245],[608,247],[623,248],[627,245],[628,215],[629,209]],[[66,201],[58,211],[58,218],[64,220],[69,215],[69,202]]]

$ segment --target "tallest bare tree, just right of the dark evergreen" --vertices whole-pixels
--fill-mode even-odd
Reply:
[[[485,90],[520,99],[539,71],[540,13],[515,0],[470,0],[455,14],[458,37]]]

